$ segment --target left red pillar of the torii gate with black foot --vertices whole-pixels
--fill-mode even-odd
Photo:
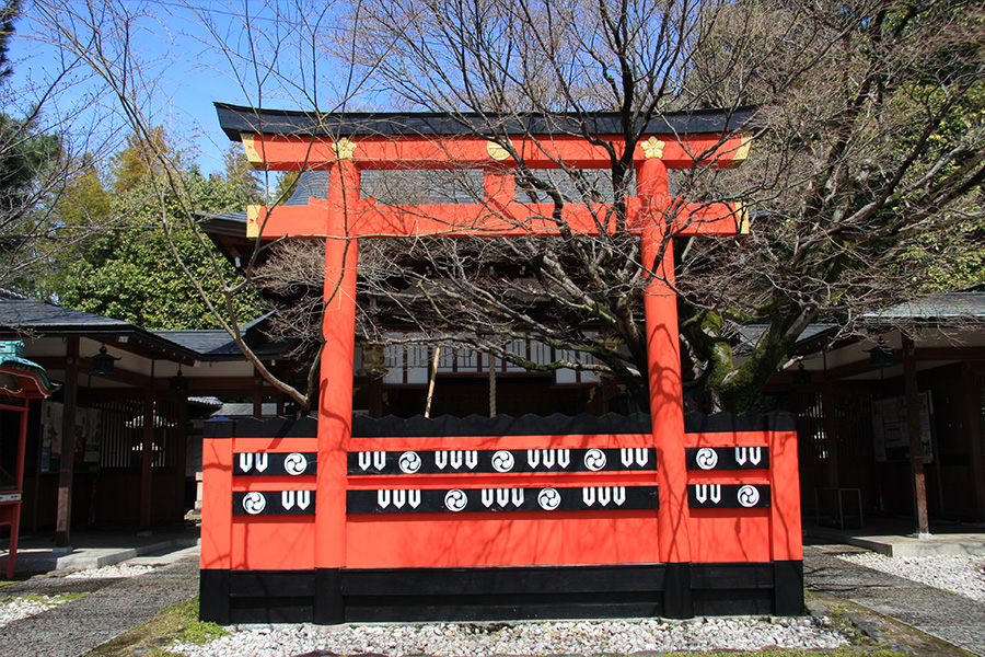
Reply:
[[[331,171],[325,240],[325,315],[318,390],[318,470],[315,494],[315,622],[343,619],[339,572],[346,565],[346,459],[352,435],[358,243],[347,239],[346,208],[359,195],[359,172],[348,160]]]

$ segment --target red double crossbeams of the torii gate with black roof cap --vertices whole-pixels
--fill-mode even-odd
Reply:
[[[505,237],[599,234],[615,222],[604,204],[520,203],[512,169],[607,169],[613,154],[625,152],[621,117],[616,113],[583,116],[496,116],[437,113],[346,113],[257,110],[217,103],[219,120],[230,139],[243,142],[256,169],[299,171],[333,169],[337,184],[348,186],[345,207],[326,199],[309,206],[280,206],[276,211],[251,207],[250,237]],[[649,135],[633,153],[637,169],[659,161],[659,168],[716,168],[741,164],[749,139],[739,130],[754,110],[732,113],[702,111],[661,115],[641,131]],[[493,126],[491,128],[489,126]],[[610,150],[610,148],[612,150]],[[359,197],[358,172],[363,169],[479,169],[485,200],[460,205],[376,205]],[[663,174],[665,176],[665,173]],[[340,197],[341,198],[341,197]],[[659,222],[674,235],[746,232],[742,207],[691,204],[674,198],[626,197],[625,230],[640,232]],[[344,234],[329,230],[326,214],[346,216]]]

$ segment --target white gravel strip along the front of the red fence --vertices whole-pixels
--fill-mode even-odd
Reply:
[[[173,644],[188,657],[288,657],[316,650],[340,655],[629,655],[668,650],[752,650],[767,646],[836,648],[845,637],[826,619],[694,619],[379,625],[239,626],[204,646]]]

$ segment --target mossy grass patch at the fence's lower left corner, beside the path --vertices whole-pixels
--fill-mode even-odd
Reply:
[[[174,657],[164,649],[175,641],[204,644],[228,634],[216,623],[198,620],[198,596],[162,609],[158,615],[83,657]]]

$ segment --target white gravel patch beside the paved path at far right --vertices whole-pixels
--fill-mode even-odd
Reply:
[[[985,556],[889,557],[861,552],[838,558],[985,602]]]

